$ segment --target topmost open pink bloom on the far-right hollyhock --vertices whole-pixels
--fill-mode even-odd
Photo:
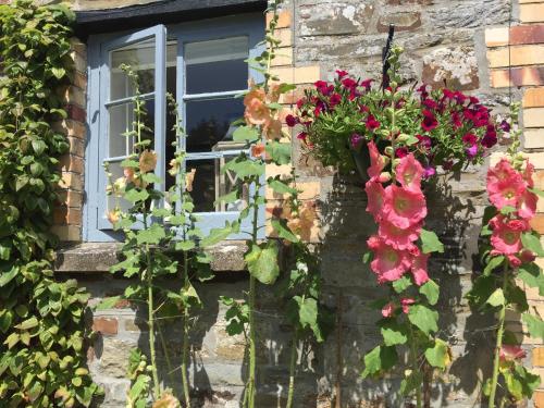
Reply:
[[[519,197],[526,191],[526,183],[510,163],[503,159],[487,172],[487,195],[497,209],[517,207]]]

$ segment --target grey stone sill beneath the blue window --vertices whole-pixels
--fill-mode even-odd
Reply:
[[[64,246],[57,250],[54,271],[63,273],[108,272],[120,260],[121,244],[83,243]],[[214,272],[240,272],[246,270],[245,242],[228,240],[210,247]]]

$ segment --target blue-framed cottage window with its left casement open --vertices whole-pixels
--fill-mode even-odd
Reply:
[[[129,65],[139,79],[149,128],[141,137],[149,139],[157,151],[156,173],[164,181],[156,188],[168,190],[173,183],[166,172],[175,138],[175,114],[166,107],[170,92],[178,102],[187,133],[185,166],[195,172],[191,196],[200,227],[207,231],[238,218],[244,199],[231,205],[214,201],[238,183],[222,168],[245,148],[233,140],[232,123],[244,113],[242,98],[236,96],[247,89],[249,77],[260,79],[245,60],[261,52],[262,20],[262,15],[246,14],[89,38],[85,240],[119,238],[106,218],[114,202],[106,195],[102,164],[108,161],[113,177],[121,177],[120,164],[132,153],[134,144],[125,134],[132,131],[135,89],[122,64]],[[249,194],[245,191],[244,196]],[[242,230],[249,231],[249,225],[242,225]]]

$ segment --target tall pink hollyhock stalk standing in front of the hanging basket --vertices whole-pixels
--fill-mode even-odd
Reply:
[[[380,284],[390,286],[391,296],[379,302],[383,319],[378,322],[384,344],[364,356],[362,376],[383,374],[398,362],[397,347],[406,346],[409,369],[405,370],[400,392],[416,395],[417,407],[423,404],[425,367],[445,369],[450,361],[449,347],[435,338],[438,313],[433,310],[438,299],[438,285],[430,280],[428,260],[431,252],[444,251],[436,235],[423,228],[426,201],[421,190],[424,168],[413,152],[398,158],[397,151],[410,139],[403,124],[410,121],[409,111],[400,108],[404,94],[398,91],[398,58],[401,50],[392,49],[390,61],[391,88],[384,92],[383,107],[388,118],[388,143],[382,154],[376,143],[370,152],[367,211],[376,224],[378,233],[368,239],[370,252],[366,261]],[[406,136],[404,136],[406,135]]]

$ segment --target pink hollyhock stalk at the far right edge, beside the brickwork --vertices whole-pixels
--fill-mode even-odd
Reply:
[[[540,376],[528,372],[521,363],[526,351],[519,339],[505,327],[506,311],[512,310],[523,313],[522,320],[531,336],[544,338],[544,322],[528,312],[526,293],[518,286],[521,281],[544,295],[544,275],[534,262],[544,251],[540,235],[530,226],[536,212],[537,195],[543,193],[534,188],[533,165],[518,152],[521,134],[518,115],[519,103],[512,103],[510,120],[505,125],[505,131],[510,132],[511,145],[507,156],[487,171],[491,206],[485,210],[481,234],[486,265],[467,295],[472,305],[491,309],[497,316],[493,372],[483,390],[490,408],[494,408],[497,400],[503,407],[505,403],[531,397],[540,385]],[[500,378],[503,392],[498,397]]]

